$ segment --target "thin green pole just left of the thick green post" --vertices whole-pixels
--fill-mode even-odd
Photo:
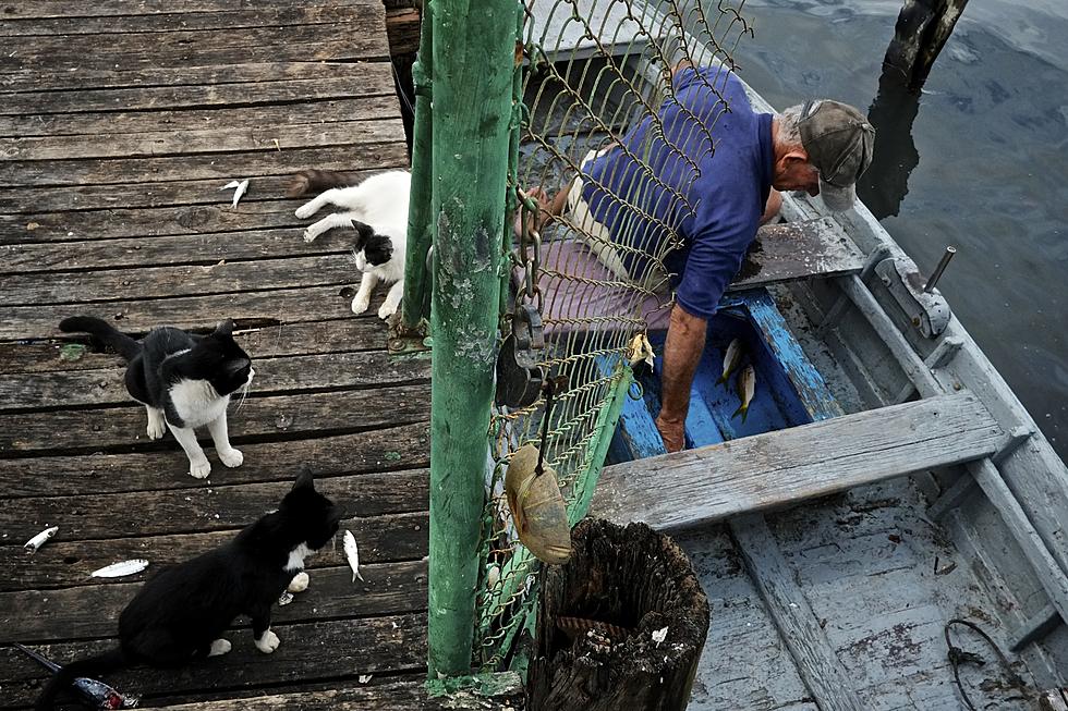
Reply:
[[[408,210],[408,256],[404,259],[404,302],[401,308],[401,327],[413,331],[423,319],[426,281],[426,253],[430,248],[430,142],[432,123],[432,68],[434,51],[432,0],[423,3],[420,26],[420,50],[412,65],[412,83],[415,85],[415,125],[412,127],[412,188]]]

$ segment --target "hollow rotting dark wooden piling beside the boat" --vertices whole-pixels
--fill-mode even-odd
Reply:
[[[546,568],[529,704],[538,711],[682,711],[708,634],[685,553],[644,524],[586,519]]]

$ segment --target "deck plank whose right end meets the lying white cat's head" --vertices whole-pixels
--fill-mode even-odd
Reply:
[[[116,267],[159,267],[165,265],[228,265],[250,259],[277,259],[279,257],[307,258],[311,255],[345,256],[352,274],[354,271],[351,248],[355,233],[342,230],[316,238],[311,244],[301,238],[299,228],[257,230],[247,232],[214,232],[195,235],[166,237],[94,240],[62,243],[24,243],[0,245],[0,273],[27,274],[31,272],[75,271],[86,269],[113,269]],[[131,271],[134,280],[141,280],[141,270]],[[39,279],[48,279],[46,275]],[[2,287],[3,285],[0,285]],[[266,286],[263,284],[262,286]],[[47,289],[47,287],[46,287]],[[128,290],[112,292],[126,294]]]

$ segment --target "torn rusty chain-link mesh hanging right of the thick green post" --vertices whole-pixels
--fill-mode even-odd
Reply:
[[[523,121],[510,187],[515,199],[538,209],[523,210],[525,219],[518,220],[511,285],[514,298],[541,311],[546,347],[539,365],[566,385],[555,397],[544,444],[544,397],[493,415],[476,599],[474,661],[483,669],[508,662],[534,602],[537,561],[515,536],[502,493],[506,467],[522,444],[538,444],[557,473],[571,524],[584,515],[612,436],[611,405],[618,414],[631,387],[632,341],[666,328],[665,257],[679,246],[677,226],[695,207],[688,188],[728,110],[717,83],[733,68],[739,39],[752,34],[741,4],[526,2],[517,87]],[[718,68],[696,78],[720,97],[700,117],[675,98],[671,70],[680,62]],[[596,168],[603,151],[618,151],[611,168]],[[675,166],[667,173],[666,162]],[[541,224],[558,195],[561,213]],[[590,213],[597,199],[611,205],[610,229]],[[502,316],[507,324],[507,311]]]

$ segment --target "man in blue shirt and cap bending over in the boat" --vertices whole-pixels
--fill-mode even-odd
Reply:
[[[777,216],[779,191],[848,209],[872,160],[875,130],[855,108],[832,100],[755,113],[724,68],[681,62],[656,117],[591,151],[570,186],[553,199],[541,188],[530,195],[539,205],[536,222],[566,213],[616,277],[673,290],[656,427],[676,452],[707,320],[756,229]]]

